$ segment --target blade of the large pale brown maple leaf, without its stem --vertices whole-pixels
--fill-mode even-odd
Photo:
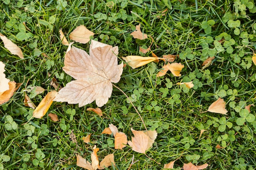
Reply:
[[[69,82],[55,97],[56,102],[79,104],[79,107],[96,100],[101,107],[111,97],[112,83],[120,80],[123,63],[118,65],[118,47],[112,47],[92,40],[90,55],[69,45],[65,55],[63,70],[74,81]]]

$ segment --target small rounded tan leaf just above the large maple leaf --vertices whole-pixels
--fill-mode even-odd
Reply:
[[[80,25],[70,33],[70,39],[85,44],[90,41],[90,36],[92,35],[94,35],[92,31],[88,30],[84,25]]]

